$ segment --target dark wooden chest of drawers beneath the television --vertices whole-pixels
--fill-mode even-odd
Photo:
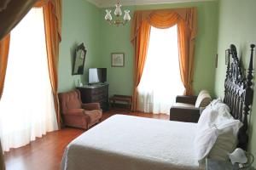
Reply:
[[[102,111],[108,111],[108,84],[86,85],[77,89],[80,91],[84,104],[98,102],[101,105]]]

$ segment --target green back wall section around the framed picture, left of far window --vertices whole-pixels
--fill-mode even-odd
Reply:
[[[131,15],[133,7],[129,8]],[[114,9],[112,9],[114,10]],[[113,12],[112,12],[113,13]],[[104,19],[105,8],[101,9],[100,38],[102,67],[108,70],[109,96],[113,94],[132,94],[133,86],[133,48],[130,42],[131,22],[126,26],[111,26]],[[111,53],[125,53],[125,67],[111,67]]]

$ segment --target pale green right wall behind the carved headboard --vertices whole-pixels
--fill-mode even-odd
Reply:
[[[218,23],[218,69],[215,77],[215,93],[224,97],[224,78],[226,65],[224,65],[224,51],[234,43],[239,57],[242,58],[245,68],[248,67],[250,44],[256,43],[256,1],[255,0],[225,0],[219,1]],[[255,56],[255,53],[254,53]],[[255,61],[255,57],[254,57]],[[255,69],[255,62],[254,62]],[[255,75],[254,75],[255,77]],[[254,78],[255,80],[255,78]],[[256,86],[254,85],[254,92]],[[256,98],[253,97],[253,109],[250,118],[249,138],[250,149],[256,156]],[[256,161],[254,161],[256,166]]]

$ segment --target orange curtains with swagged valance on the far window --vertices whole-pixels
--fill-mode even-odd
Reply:
[[[137,86],[141,80],[147,57],[150,26],[164,29],[177,24],[179,65],[181,79],[185,87],[184,94],[193,94],[196,19],[196,8],[135,12],[131,26],[131,43],[135,51],[133,111],[137,111]]]

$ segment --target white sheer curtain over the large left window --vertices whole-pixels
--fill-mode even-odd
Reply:
[[[3,150],[28,144],[56,129],[43,8],[32,8],[11,32],[9,61],[0,100]]]

